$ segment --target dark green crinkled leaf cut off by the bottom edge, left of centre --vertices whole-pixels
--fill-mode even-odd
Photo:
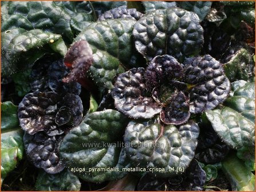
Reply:
[[[80,191],[81,183],[69,170],[49,174],[40,171],[37,176],[36,189],[39,191]]]

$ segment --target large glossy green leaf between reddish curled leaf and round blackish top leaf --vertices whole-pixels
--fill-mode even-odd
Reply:
[[[86,40],[93,51],[93,65],[89,75],[96,85],[112,89],[113,78],[124,72],[123,65],[133,66],[133,19],[108,19],[86,27],[74,40]]]

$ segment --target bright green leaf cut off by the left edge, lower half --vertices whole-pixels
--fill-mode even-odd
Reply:
[[[14,170],[23,157],[23,131],[19,127],[18,107],[1,103],[1,180]]]

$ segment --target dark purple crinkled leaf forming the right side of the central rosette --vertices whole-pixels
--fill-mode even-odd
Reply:
[[[230,82],[221,63],[210,55],[204,55],[188,58],[184,65],[184,81],[192,84],[190,113],[214,109],[225,101],[230,92]]]

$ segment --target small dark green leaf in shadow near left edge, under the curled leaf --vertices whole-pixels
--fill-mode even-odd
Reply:
[[[19,97],[24,97],[30,88],[30,73],[31,69],[13,74],[13,81],[15,83],[15,90]]]

